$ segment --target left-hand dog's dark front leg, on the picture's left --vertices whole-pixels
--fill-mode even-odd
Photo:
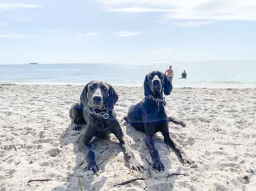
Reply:
[[[87,126],[85,133],[82,135],[79,142],[80,151],[86,156],[87,159],[87,169],[93,171],[94,173],[98,172],[98,167],[95,161],[94,151],[91,148],[91,139],[94,137],[94,126]]]

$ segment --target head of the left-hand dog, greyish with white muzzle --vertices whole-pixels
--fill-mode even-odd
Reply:
[[[104,107],[113,109],[118,96],[111,85],[106,82],[93,80],[83,88],[80,100],[85,107],[89,105],[98,109],[103,109]]]

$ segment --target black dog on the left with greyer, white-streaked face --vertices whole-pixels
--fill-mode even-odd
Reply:
[[[98,171],[94,151],[91,148],[91,139],[94,136],[106,138],[113,133],[122,145],[130,169],[142,171],[141,165],[135,160],[130,145],[115,118],[113,107],[118,96],[113,87],[106,82],[91,81],[83,88],[80,100],[81,103],[75,103],[71,107],[70,118],[76,130],[79,130],[83,124],[87,124],[85,133],[79,142],[81,152],[87,156],[87,169],[94,173]]]

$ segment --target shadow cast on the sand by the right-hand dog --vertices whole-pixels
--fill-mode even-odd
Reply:
[[[123,126],[126,126],[126,133],[132,139],[134,139],[134,144],[132,145],[132,150],[137,150],[143,162],[143,177],[145,177],[145,187],[143,190],[148,191],[172,191],[175,185],[175,174],[180,174],[182,171],[181,167],[178,167],[175,171],[171,171],[171,148],[163,141],[161,134],[157,133],[154,135],[154,143],[156,150],[160,155],[160,160],[165,166],[164,172],[154,171],[152,169],[152,159],[150,152],[145,144],[145,133],[137,131],[128,122],[124,122]],[[170,175],[171,174],[171,175]],[[168,175],[170,175],[168,177]]]

